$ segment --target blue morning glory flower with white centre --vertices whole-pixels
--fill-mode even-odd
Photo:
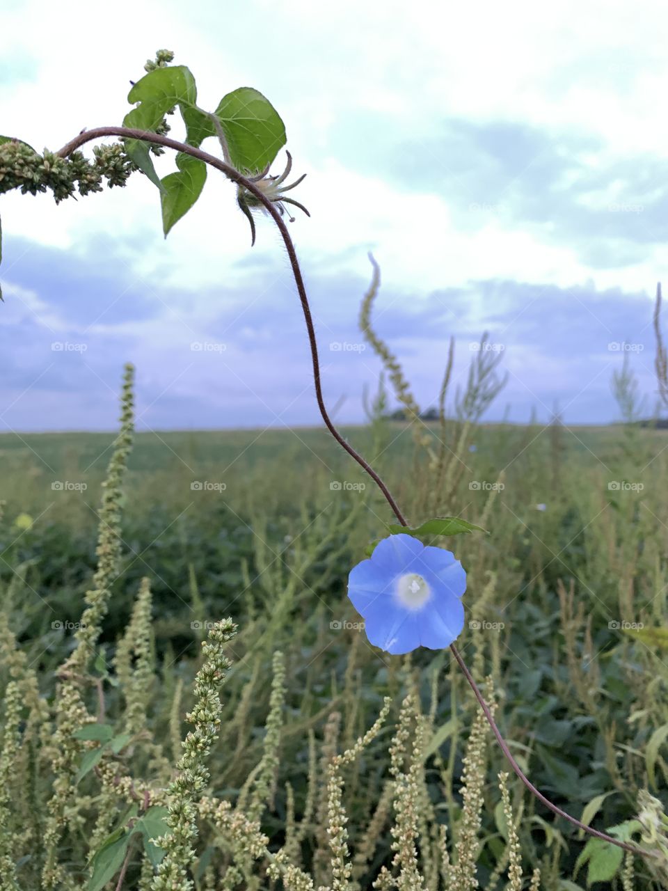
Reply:
[[[348,597],[369,641],[388,653],[443,650],[464,627],[466,572],[454,554],[412,535],[389,535],[348,576]]]

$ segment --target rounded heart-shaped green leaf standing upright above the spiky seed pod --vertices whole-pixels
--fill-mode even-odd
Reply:
[[[235,168],[257,173],[285,145],[285,126],[271,102],[250,86],[224,96],[216,111]]]

